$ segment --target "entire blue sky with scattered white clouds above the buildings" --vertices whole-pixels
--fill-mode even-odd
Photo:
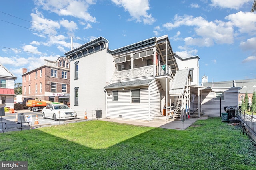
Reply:
[[[168,35],[181,57],[200,57],[200,80],[256,78],[254,0],[8,0],[0,6],[0,63],[22,68],[56,60],[97,37],[114,50]],[[182,68],[180,68],[182,69]]]

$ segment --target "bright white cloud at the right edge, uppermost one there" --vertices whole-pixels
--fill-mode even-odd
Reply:
[[[238,27],[240,33],[256,34],[256,13],[240,11],[226,16],[225,19]]]

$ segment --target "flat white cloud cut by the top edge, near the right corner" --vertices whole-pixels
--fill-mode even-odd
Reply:
[[[241,6],[253,0],[211,0],[212,6],[238,10]]]

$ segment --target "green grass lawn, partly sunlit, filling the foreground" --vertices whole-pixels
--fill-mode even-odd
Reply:
[[[185,131],[107,121],[0,134],[1,161],[29,170],[255,170],[256,144],[221,118]]]

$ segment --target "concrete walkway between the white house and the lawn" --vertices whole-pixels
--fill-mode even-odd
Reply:
[[[182,122],[182,121],[166,121],[166,122],[150,121],[150,122],[146,122],[146,121],[132,121],[132,120],[122,120],[122,119],[114,119],[114,118],[110,118],[110,119],[101,118],[99,120],[124,123],[124,124],[130,124],[130,125],[138,125],[138,126],[185,130],[188,127],[190,127],[190,125],[192,125],[195,121],[200,120],[200,119],[206,119],[206,118],[205,117],[189,118],[189,119],[186,119],[184,122]]]

